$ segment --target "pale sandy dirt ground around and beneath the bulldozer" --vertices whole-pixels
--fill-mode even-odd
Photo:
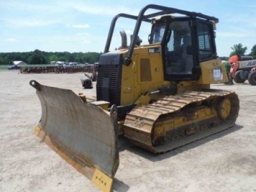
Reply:
[[[0,71],[0,191],[99,191],[32,133],[41,106],[29,81],[95,95],[95,86],[82,88],[83,77]],[[236,125],[160,155],[124,141],[114,191],[256,191],[256,87],[212,88],[239,95]]]

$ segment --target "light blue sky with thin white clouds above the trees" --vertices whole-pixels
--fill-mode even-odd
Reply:
[[[1,0],[0,52],[27,52],[39,49],[48,52],[103,52],[114,15],[137,15],[142,7],[158,4],[177,9],[201,12],[219,18],[217,52],[229,56],[230,47],[241,43],[249,54],[256,44],[256,1],[70,1],[70,0]],[[148,12],[149,13],[149,12]],[[119,19],[111,49],[121,45],[119,31],[130,36],[135,22]],[[147,43],[150,25],[142,25],[139,33]]]

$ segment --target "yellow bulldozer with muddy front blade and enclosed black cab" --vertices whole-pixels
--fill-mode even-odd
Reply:
[[[136,24],[130,45],[121,31],[121,46],[110,51],[119,18]],[[99,59],[96,99],[31,80],[42,113],[33,132],[101,190],[111,191],[122,137],[165,153],[228,129],[238,117],[238,95],[210,89],[228,80],[216,51],[218,22],[159,5],[116,15]],[[142,23],[152,26],[146,45],[138,36]]]

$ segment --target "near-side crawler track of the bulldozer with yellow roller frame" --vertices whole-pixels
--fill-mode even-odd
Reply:
[[[135,107],[125,118],[124,133],[133,144],[162,153],[231,127],[238,111],[234,92],[185,91]]]

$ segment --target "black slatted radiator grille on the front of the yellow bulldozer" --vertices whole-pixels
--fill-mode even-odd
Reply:
[[[102,89],[102,80],[103,77],[109,77],[109,102],[110,105],[120,104],[120,101],[117,101],[117,76],[118,76],[118,65],[100,65],[98,68],[97,76],[97,101],[103,100],[103,89]]]

